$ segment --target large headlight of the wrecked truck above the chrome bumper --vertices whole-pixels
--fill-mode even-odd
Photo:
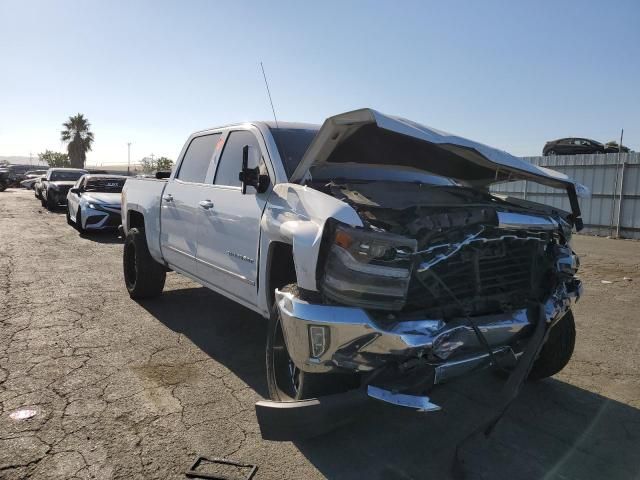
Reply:
[[[400,310],[411,279],[416,240],[339,225],[322,277],[322,293],[339,303]]]

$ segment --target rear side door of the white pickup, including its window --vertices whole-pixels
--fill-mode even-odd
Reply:
[[[211,167],[220,133],[194,137],[178,171],[167,182],[160,200],[160,248],[175,269],[196,275],[198,202],[207,190],[205,179]]]

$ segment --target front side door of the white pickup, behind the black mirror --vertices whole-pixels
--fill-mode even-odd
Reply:
[[[228,133],[213,184],[198,198],[198,276],[250,305],[257,304],[260,218],[269,191],[258,194],[249,187],[243,194],[238,175],[245,145],[267,158],[256,133],[239,129]]]

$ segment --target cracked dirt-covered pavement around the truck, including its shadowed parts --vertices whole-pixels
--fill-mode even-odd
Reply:
[[[574,248],[573,359],[463,445],[467,478],[640,478],[640,242]],[[349,428],[264,441],[265,322],[175,273],[161,298],[134,302],[121,251],[32,192],[0,193],[0,478],[186,478],[202,454],[256,464],[256,479],[447,479],[492,411],[502,380],[486,374],[435,392],[441,412],[374,403]]]

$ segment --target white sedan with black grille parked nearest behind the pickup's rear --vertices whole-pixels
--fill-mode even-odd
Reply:
[[[83,175],[67,194],[67,223],[78,231],[120,226],[120,199],[128,177]]]

